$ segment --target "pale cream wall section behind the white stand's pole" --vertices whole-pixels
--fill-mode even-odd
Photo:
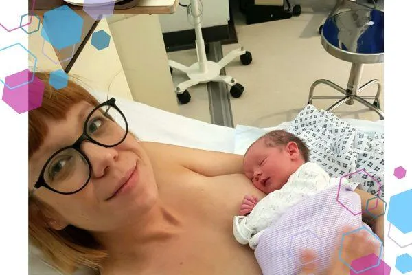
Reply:
[[[182,4],[190,3],[188,0],[180,0]],[[213,27],[216,25],[227,25],[229,21],[229,0],[202,0],[203,19],[202,27]],[[174,14],[160,14],[159,21],[162,32],[177,32],[180,30],[191,30],[187,19],[186,8],[177,6]]]

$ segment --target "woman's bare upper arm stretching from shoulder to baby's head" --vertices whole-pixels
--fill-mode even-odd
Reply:
[[[170,161],[207,177],[243,173],[242,155],[155,142],[142,142],[142,145],[143,143],[150,157],[168,157]]]

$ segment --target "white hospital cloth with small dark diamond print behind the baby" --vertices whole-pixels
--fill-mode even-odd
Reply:
[[[361,183],[362,190],[383,197],[383,133],[368,135],[312,105],[297,115],[287,131],[304,140],[310,162],[321,165],[330,177],[348,175],[350,181]]]

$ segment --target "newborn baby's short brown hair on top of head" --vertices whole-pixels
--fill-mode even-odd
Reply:
[[[268,147],[275,147],[279,145],[286,145],[289,142],[295,142],[297,144],[297,148],[299,148],[299,152],[301,153],[305,162],[309,162],[309,154],[310,151],[306,144],[296,135],[293,133],[286,132],[284,130],[274,130],[266,133],[262,137],[259,137],[258,140],[253,142],[255,144],[259,140],[264,139],[264,143]],[[253,144],[251,146],[253,146]],[[249,148],[251,148],[251,146]],[[248,149],[249,151],[249,149]]]

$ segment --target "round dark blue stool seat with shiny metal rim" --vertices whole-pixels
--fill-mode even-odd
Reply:
[[[383,12],[349,10],[329,17],[323,25],[325,50],[350,63],[383,62]]]

